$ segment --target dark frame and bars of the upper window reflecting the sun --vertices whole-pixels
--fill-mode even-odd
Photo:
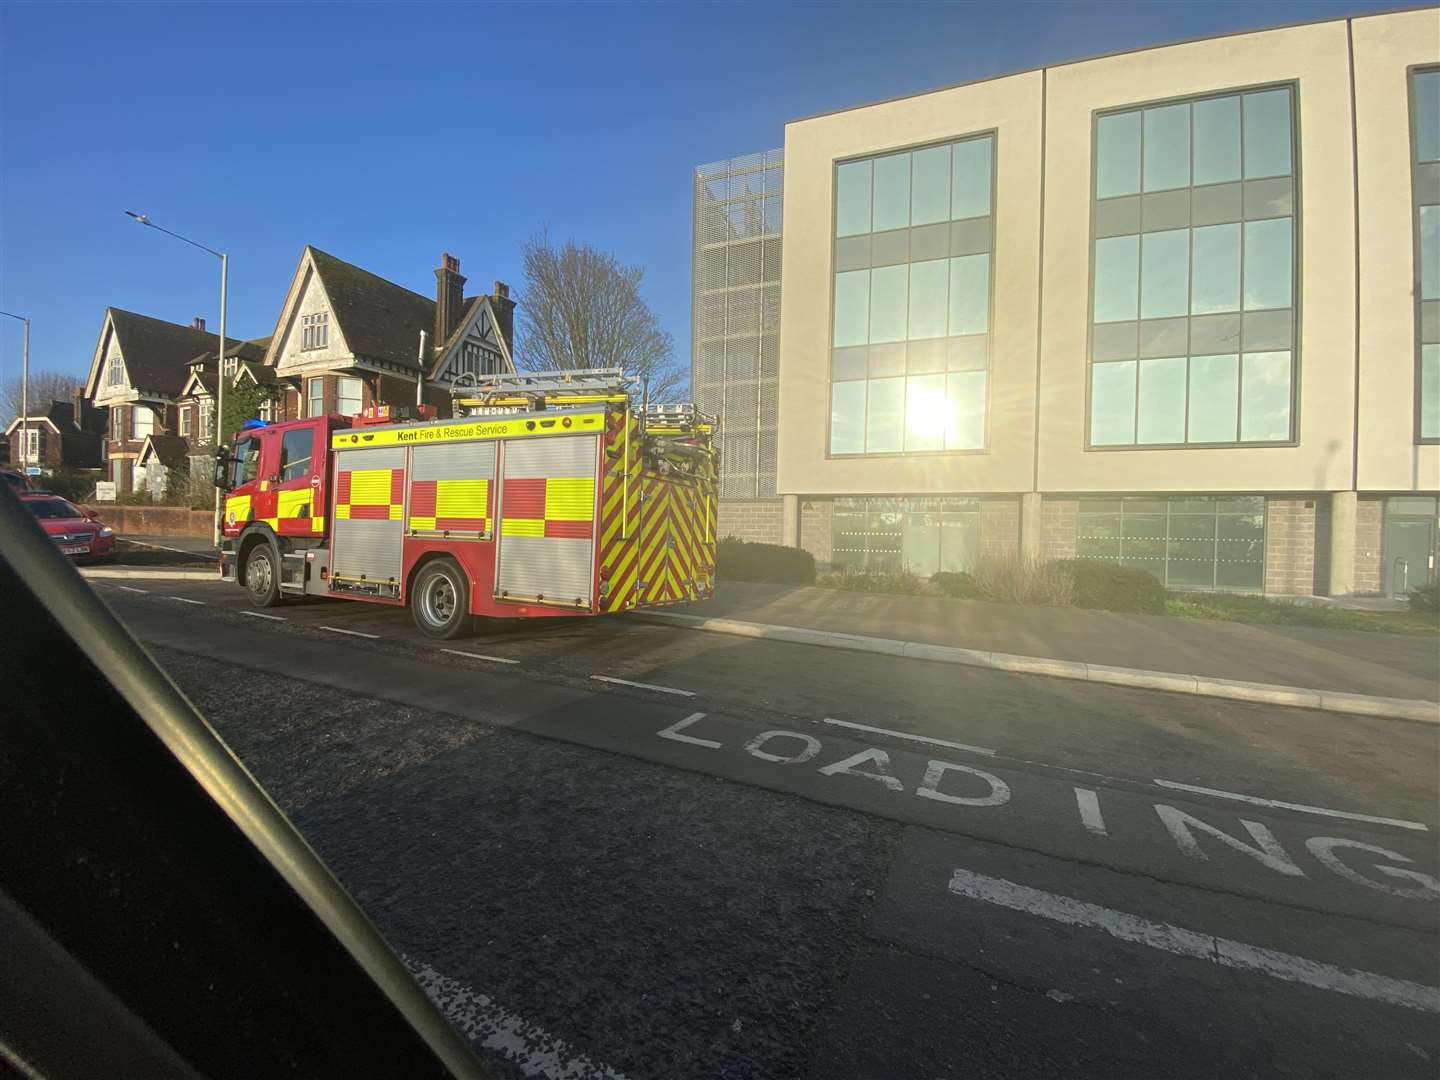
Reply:
[[[838,233],[837,233],[838,223],[840,223],[840,168],[841,168],[841,166],[854,164],[857,161],[871,161],[871,163],[874,163],[874,161],[878,161],[880,158],[891,157],[894,154],[901,154],[901,153],[904,153],[904,154],[914,154],[917,151],[932,150],[935,147],[950,147],[950,153],[953,156],[953,153],[955,153],[953,147],[956,144],[959,144],[959,143],[969,143],[969,141],[978,141],[978,140],[984,140],[984,138],[988,138],[989,143],[991,143],[991,153],[989,153],[989,167],[991,167],[991,174],[989,174],[989,215],[988,215],[988,219],[989,219],[989,223],[991,223],[989,225],[989,228],[991,228],[991,239],[989,239],[989,249],[985,252],[985,255],[989,259],[989,266],[986,268],[988,274],[989,274],[988,295],[985,298],[985,302],[986,302],[986,330],[985,330],[985,334],[984,334],[984,337],[986,338],[986,357],[985,357],[985,367],[982,367],[982,369],[963,369],[966,372],[968,370],[981,370],[981,372],[985,373],[985,432],[984,432],[982,445],[981,446],[958,446],[955,449],[943,449],[942,448],[942,449],[923,449],[923,451],[922,449],[914,449],[914,451],[907,451],[907,449],[901,448],[899,451],[874,451],[874,452],[871,452],[871,451],[861,451],[858,454],[835,454],[832,451],[832,441],[831,441],[832,439],[832,429],[834,429],[834,423],[835,423],[835,415],[834,415],[834,408],[832,408],[832,400],[834,400],[834,389],[832,387],[835,386],[835,380],[832,377],[834,376],[834,356],[835,356],[835,348],[837,347],[841,347],[841,348],[845,347],[845,346],[835,346],[835,276],[837,276],[837,269],[835,269],[835,245],[837,245],[838,240],[847,239],[847,238],[838,236]],[[912,163],[912,177],[910,177],[910,184],[912,184],[912,187],[910,187],[910,193],[912,193],[910,197],[912,197],[912,200],[914,199],[914,176],[913,176],[913,168],[914,168],[914,166]],[[952,166],[952,168],[953,168],[953,166]],[[887,458],[953,458],[953,456],[975,456],[975,455],[985,455],[985,454],[992,454],[994,452],[994,449],[991,446],[991,435],[992,435],[991,419],[992,419],[992,405],[994,405],[994,399],[995,399],[995,377],[994,377],[995,376],[995,276],[996,276],[995,275],[995,262],[996,262],[995,255],[996,255],[996,251],[998,251],[998,235],[999,235],[999,229],[996,228],[996,217],[998,217],[996,209],[998,209],[998,199],[999,199],[998,180],[999,180],[999,127],[998,125],[992,125],[992,127],[988,127],[988,128],[976,128],[973,131],[962,131],[962,132],[956,132],[953,135],[946,135],[945,138],[932,138],[932,140],[924,140],[924,141],[920,141],[920,143],[903,143],[900,145],[886,145],[886,147],[878,147],[876,150],[867,150],[863,154],[847,154],[844,157],[834,157],[834,158],[831,158],[831,161],[829,161],[829,262],[828,262],[828,268],[827,268],[827,272],[829,275],[829,285],[828,285],[828,288],[829,288],[829,312],[828,312],[828,330],[827,330],[827,347],[825,347],[825,429],[824,429],[824,433],[822,433],[822,438],[824,438],[822,459],[824,461],[880,461],[880,459],[887,459]],[[952,181],[953,181],[953,174],[952,174]],[[874,226],[874,216],[873,216],[874,215],[874,183],[876,183],[874,167],[871,166],[871,173],[870,173],[871,226]],[[955,192],[952,189],[950,190],[950,207],[952,207],[952,210],[953,210],[953,204],[955,204]],[[913,206],[912,206],[912,213],[913,213]],[[972,219],[968,219],[968,217],[949,217],[949,219],[946,219],[946,223],[952,223],[952,222],[956,222],[956,220],[972,220]],[[910,225],[907,228],[914,229],[914,228],[926,228],[926,226]],[[886,232],[886,230],[881,230],[881,232]],[[871,230],[868,233],[851,233],[851,235],[854,235],[854,236],[873,236],[873,235],[876,235],[876,229],[871,228]],[[948,255],[948,256],[945,256],[945,261],[946,261],[946,264],[949,264],[955,258],[965,258],[965,256]],[[917,262],[924,262],[924,259],[919,259]],[[907,271],[907,275],[909,275],[909,269],[910,269],[910,266],[914,265],[914,262],[904,262],[904,264],[897,264],[897,265],[903,265],[906,268],[906,271]],[[871,266],[870,269],[874,271],[877,268]],[[880,268],[880,269],[884,269],[884,268]],[[909,287],[906,289],[906,297],[907,297],[907,301],[909,301]],[[907,312],[907,317],[909,317],[909,312]],[[867,323],[867,325],[868,325],[868,323]],[[979,337],[979,334],[962,334],[959,337]],[[923,338],[923,340],[948,341],[949,337]],[[901,341],[906,343],[906,344],[909,344],[909,338],[901,338]],[[943,374],[946,374],[946,376],[956,374],[956,373],[958,372],[949,372],[948,369],[943,372]],[[916,373],[916,376],[920,376],[920,373]],[[861,428],[865,429],[865,431],[868,431],[868,426],[870,426],[868,425],[870,383],[873,383],[873,382],[876,382],[877,379],[881,379],[881,377],[884,377],[884,376],[876,376],[876,377],[873,377],[873,376],[870,376],[867,373],[864,379],[847,379],[847,380],[841,380],[841,382],[858,382],[858,383],[864,383],[865,384],[865,415],[861,416],[861,419],[860,419]],[[912,376],[910,376],[909,372],[903,372],[900,374],[900,377],[909,380]],[[906,431],[906,426],[904,426],[904,413],[901,412],[901,423],[900,423],[901,444],[903,444],[903,439],[904,439],[904,431]]]

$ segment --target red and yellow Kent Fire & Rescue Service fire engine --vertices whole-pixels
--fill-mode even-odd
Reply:
[[[714,595],[714,422],[596,369],[487,376],[452,419],[380,405],[248,422],[216,454],[220,573],[256,606],[408,605],[471,616],[602,615]]]

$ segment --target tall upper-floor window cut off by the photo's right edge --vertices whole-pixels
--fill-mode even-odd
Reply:
[[[1416,199],[1416,433],[1440,441],[1440,68],[1417,71],[1410,84]]]

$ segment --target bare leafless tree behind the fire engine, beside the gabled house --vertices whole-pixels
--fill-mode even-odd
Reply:
[[[639,294],[645,271],[589,245],[531,236],[524,248],[516,363],[528,372],[622,367],[649,383],[651,400],[680,393],[675,341]]]

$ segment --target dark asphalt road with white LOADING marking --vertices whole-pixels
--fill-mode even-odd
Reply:
[[[94,585],[500,1074],[1440,1068],[1434,726]]]

